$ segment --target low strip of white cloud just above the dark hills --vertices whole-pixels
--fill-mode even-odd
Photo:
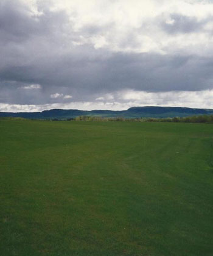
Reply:
[[[213,90],[204,91],[170,91],[164,93],[147,93],[145,91],[117,91],[114,101],[77,101],[70,103],[54,103],[42,105],[19,105],[0,103],[1,112],[37,112],[52,108],[65,108],[80,110],[110,109],[126,110],[138,106],[166,106],[166,107],[192,107],[213,108]]]

